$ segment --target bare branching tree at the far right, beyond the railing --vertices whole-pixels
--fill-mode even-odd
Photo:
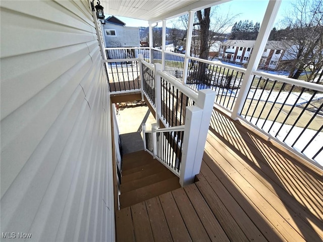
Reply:
[[[289,77],[298,79],[306,70],[307,81],[323,66],[323,0],[297,0],[284,19],[285,56]]]

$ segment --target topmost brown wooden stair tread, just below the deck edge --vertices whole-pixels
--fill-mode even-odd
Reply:
[[[120,208],[129,207],[161,194],[181,188],[177,176],[120,195]]]

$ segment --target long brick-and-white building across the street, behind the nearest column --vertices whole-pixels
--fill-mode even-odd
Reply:
[[[228,62],[245,64],[249,61],[255,40],[228,40],[222,43],[219,58]],[[280,41],[268,41],[263,51],[259,67],[275,70],[285,52]]]

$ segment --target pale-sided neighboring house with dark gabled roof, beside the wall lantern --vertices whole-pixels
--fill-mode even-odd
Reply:
[[[106,18],[102,27],[105,47],[140,47],[139,27],[126,27],[115,16]]]

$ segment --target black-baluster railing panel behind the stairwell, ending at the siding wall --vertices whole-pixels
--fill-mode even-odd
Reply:
[[[140,89],[138,61],[106,63],[111,92]]]

